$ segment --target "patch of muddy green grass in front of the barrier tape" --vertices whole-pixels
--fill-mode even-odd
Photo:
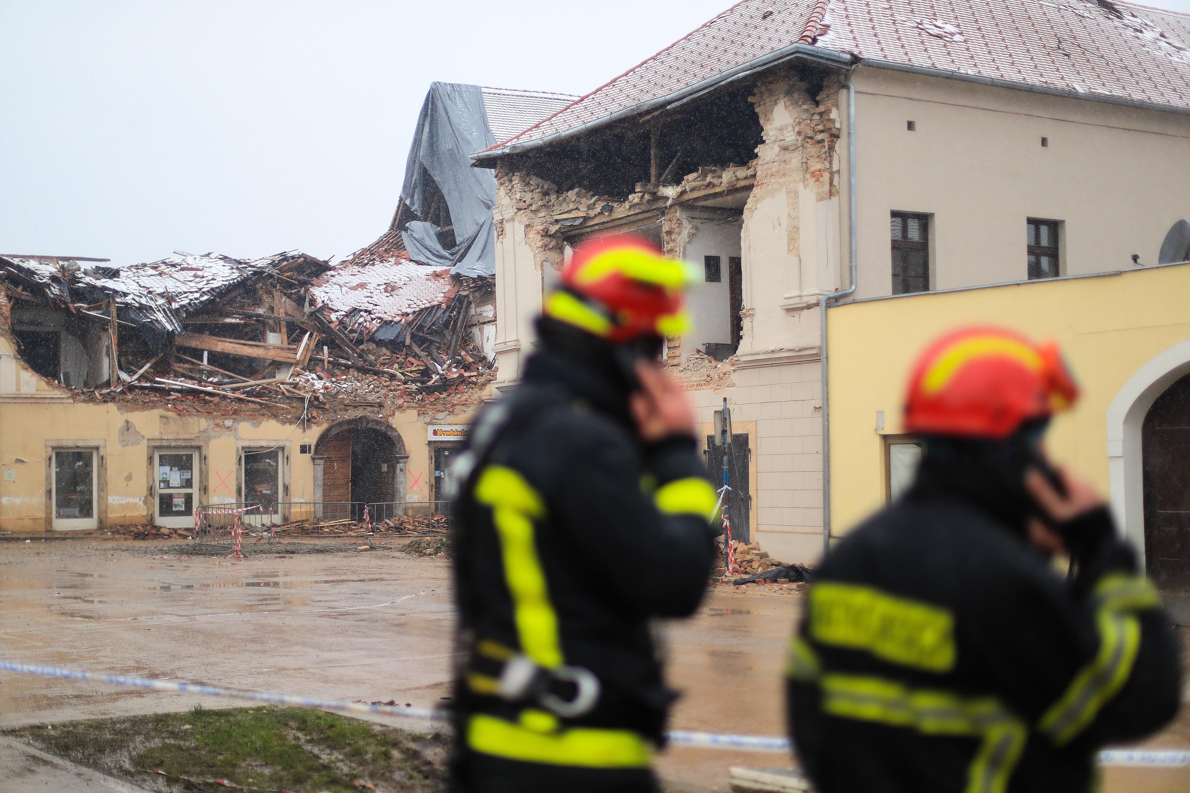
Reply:
[[[10,730],[51,754],[161,791],[217,789],[180,778],[275,791],[445,786],[445,739],[299,707],[195,708]],[[144,773],[162,770],[165,776]]]

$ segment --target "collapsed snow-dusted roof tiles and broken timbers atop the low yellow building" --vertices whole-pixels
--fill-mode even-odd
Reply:
[[[21,357],[76,401],[334,419],[453,408],[494,377],[490,280],[416,264],[399,235],[337,267],[298,251],[129,267],[0,256],[0,295]],[[64,331],[62,356],[39,356],[43,329]]]

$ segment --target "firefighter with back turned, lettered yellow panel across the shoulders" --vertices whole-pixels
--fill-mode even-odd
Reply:
[[[791,732],[821,793],[1088,791],[1096,750],[1173,718],[1157,592],[1095,489],[1042,451],[1077,396],[1054,344],[1007,330],[917,361],[916,479],[822,562],[790,647]]]

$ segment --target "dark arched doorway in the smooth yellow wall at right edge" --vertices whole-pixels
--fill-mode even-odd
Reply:
[[[1141,427],[1145,561],[1161,589],[1190,589],[1190,375],[1153,401]]]

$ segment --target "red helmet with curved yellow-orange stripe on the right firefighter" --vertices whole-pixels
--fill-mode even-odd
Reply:
[[[921,435],[1003,439],[1031,419],[1065,410],[1078,385],[1053,342],[1002,327],[946,333],[909,376],[904,429]]]

